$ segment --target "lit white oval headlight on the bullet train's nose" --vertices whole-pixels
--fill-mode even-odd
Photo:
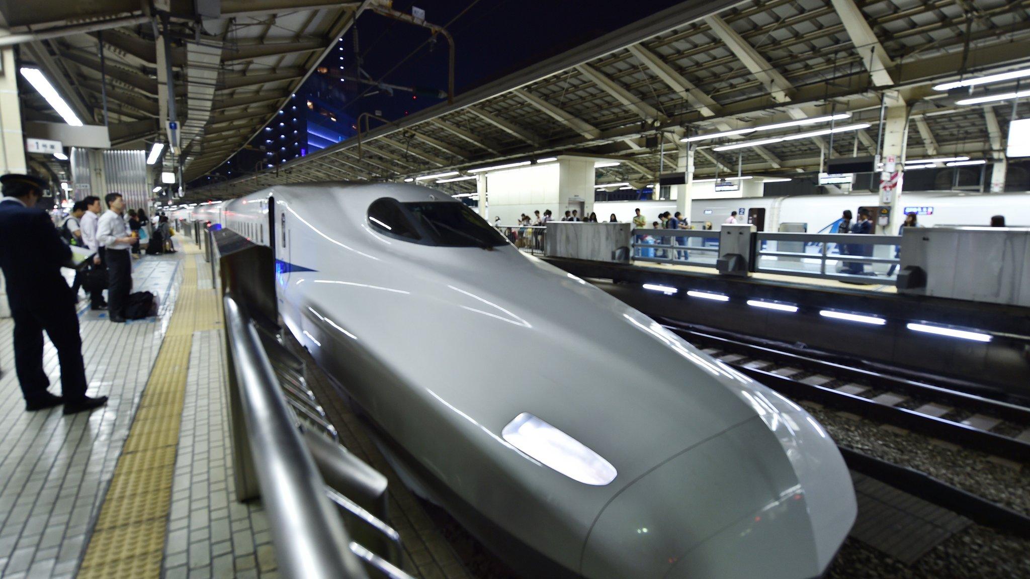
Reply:
[[[584,484],[604,486],[618,474],[600,454],[528,412],[508,422],[501,436],[533,458]]]

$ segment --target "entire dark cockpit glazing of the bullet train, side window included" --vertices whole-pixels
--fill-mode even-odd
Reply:
[[[383,198],[369,206],[369,222],[393,237],[423,245],[496,247],[508,240],[461,203]]]

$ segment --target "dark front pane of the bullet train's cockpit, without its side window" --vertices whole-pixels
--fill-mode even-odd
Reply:
[[[475,211],[455,202],[404,203],[433,245],[448,247],[496,247],[508,240]]]

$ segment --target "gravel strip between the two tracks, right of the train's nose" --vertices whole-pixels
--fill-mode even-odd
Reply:
[[[883,461],[911,467],[1009,509],[1030,515],[1030,468],[1001,464],[983,452],[956,447],[917,433],[884,429],[800,402],[838,444]]]

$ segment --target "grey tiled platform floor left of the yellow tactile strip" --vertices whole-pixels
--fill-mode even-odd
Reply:
[[[134,262],[136,290],[159,296],[157,319],[111,323],[80,314],[90,394],[110,402],[89,414],[26,412],[14,375],[11,330],[0,319],[0,577],[71,577],[161,346],[176,297],[178,256]],[[49,341],[44,368],[60,391]]]

